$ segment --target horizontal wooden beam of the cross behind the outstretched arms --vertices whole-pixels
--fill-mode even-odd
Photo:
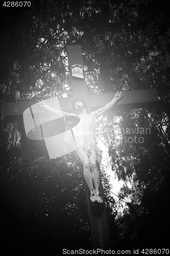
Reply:
[[[102,94],[92,94],[88,95],[89,106],[91,111],[95,111],[102,106],[105,106],[109,101],[114,98],[115,93],[102,93]],[[77,95],[79,98],[84,99],[84,95]],[[59,98],[59,103],[61,110],[66,112],[72,112],[72,102],[76,97]],[[138,90],[138,91],[128,91],[123,92],[122,98],[116,102],[110,110],[126,110],[126,109],[138,109],[138,108],[152,108],[158,101],[157,93],[155,89],[150,90]],[[38,103],[37,100],[29,101],[18,101],[9,102],[4,104],[4,118],[6,122],[22,120],[23,112],[30,106]],[[37,110],[38,113],[43,112],[42,110]]]

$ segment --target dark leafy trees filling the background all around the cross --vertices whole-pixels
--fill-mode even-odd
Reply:
[[[96,133],[109,148],[115,176],[124,181],[116,200],[101,167],[113,248],[167,248],[168,10],[166,0],[40,0],[19,11],[0,9],[4,244],[18,250],[92,247],[80,161],[73,153],[48,159],[43,142],[27,139],[22,121],[6,123],[3,117],[5,102],[70,96],[66,47],[80,44],[90,94],[157,91],[154,108],[108,112]]]

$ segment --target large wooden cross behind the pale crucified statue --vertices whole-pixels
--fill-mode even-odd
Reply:
[[[67,54],[72,86],[72,97],[58,99],[61,110],[69,113],[72,112],[72,102],[76,99],[83,99],[86,102],[90,111],[95,111],[110,102],[113,99],[115,93],[88,95],[81,46],[68,46]],[[154,89],[123,92],[122,98],[114,105],[113,109],[125,110],[143,107],[151,108],[156,101],[158,101],[158,97]],[[38,101],[34,100],[4,104],[5,120],[7,122],[22,120],[23,112],[25,112],[28,108],[30,108],[30,106],[34,105],[37,102]],[[35,111],[37,111],[37,113],[43,112],[38,108]],[[105,204],[100,206],[91,205],[89,200],[89,189],[85,181],[84,185],[93,248],[111,249],[111,239]],[[101,196],[104,198],[101,182],[100,188]]]

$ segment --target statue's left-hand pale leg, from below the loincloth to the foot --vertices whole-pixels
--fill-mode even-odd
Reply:
[[[78,150],[78,156],[80,158],[80,161],[83,164],[83,175],[87,183],[87,186],[90,190],[90,200],[91,202],[95,202],[96,199],[95,199],[95,193],[94,193],[95,191],[92,183],[92,175],[90,171],[90,162],[89,162],[88,156],[86,155],[82,147],[80,147]]]

